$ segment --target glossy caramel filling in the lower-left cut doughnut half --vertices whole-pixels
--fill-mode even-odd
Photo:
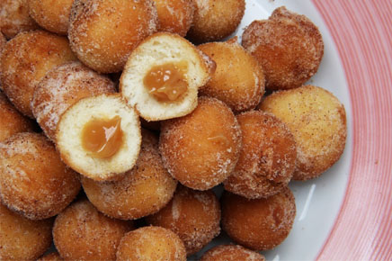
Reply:
[[[121,118],[93,119],[82,130],[82,146],[93,157],[111,157],[122,144]]]

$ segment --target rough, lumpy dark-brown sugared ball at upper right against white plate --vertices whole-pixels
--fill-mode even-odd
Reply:
[[[284,6],[275,9],[268,20],[246,27],[242,44],[263,66],[265,86],[270,90],[303,85],[316,73],[324,54],[316,25]]]

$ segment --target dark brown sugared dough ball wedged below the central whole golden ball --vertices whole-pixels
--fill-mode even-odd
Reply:
[[[220,206],[212,191],[195,191],[180,185],[172,201],[147,217],[147,222],[174,231],[183,240],[187,256],[191,256],[218,236]]]

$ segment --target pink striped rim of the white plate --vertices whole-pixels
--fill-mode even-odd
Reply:
[[[343,61],[353,156],[319,260],[392,260],[392,1],[313,0]]]

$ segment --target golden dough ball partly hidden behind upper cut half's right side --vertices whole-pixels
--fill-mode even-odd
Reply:
[[[264,93],[263,69],[236,38],[198,48],[217,63],[214,75],[200,88],[200,94],[223,101],[235,112],[254,109],[260,103]]]

